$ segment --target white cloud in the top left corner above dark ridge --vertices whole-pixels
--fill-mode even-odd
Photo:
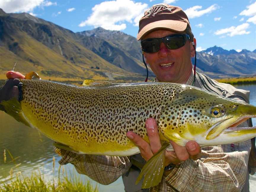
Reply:
[[[45,0],[0,0],[0,7],[7,13],[32,12],[35,7],[51,6],[57,3]]]

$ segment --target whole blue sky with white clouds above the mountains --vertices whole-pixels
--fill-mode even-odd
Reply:
[[[143,12],[163,2],[187,13],[198,51],[215,45],[256,49],[255,0],[0,0],[0,8],[7,13],[27,12],[73,32],[101,26],[136,37]]]

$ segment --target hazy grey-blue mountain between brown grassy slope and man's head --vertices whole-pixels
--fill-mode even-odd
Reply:
[[[108,62],[134,73],[145,74],[140,43],[134,37],[121,31],[105,30],[101,27],[91,31],[82,31],[80,39],[84,47],[92,50]],[[153,76],[153,72],[149,71]]]

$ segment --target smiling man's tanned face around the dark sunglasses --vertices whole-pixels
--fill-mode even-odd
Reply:
[[[143,39],[161,38],[172,34],[175,33],[168,30],[157,30],[149,33]],[[159,81],[185,83],[192,71],[190,58],[193,56],[193,53],[191,54],[193,49],[191,41],[187,41],[183,47],[173,50],[167,49],[164,43],[161,43],[158,52],[144,52],[144,57]]]

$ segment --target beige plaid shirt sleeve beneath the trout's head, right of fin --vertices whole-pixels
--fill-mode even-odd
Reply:
[[[247,126],[247,123],[243,125]],[[202,148],[200,159],[188,159],[165,177],[167,189],[175,188],[180,192],[241,191],[246,180],[250,149],[251,140]]]

